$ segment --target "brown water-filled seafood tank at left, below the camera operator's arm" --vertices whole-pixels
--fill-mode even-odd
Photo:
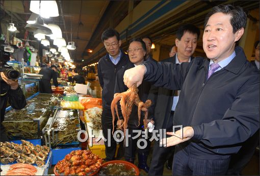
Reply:
[[[39,138],[53,107],[58,104],[59,96],[40,93],[28,100],[25,108],[8,111],[3,121],[8,138]]]

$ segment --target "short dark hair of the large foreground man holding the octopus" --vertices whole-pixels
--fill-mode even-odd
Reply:
[[[207,24],[207,21],[209,21],[209,18],[215,14],[215,13],[224,13],[227,15],[231,15],[230,18],[230,24],[233,28],[233,33],[235,34],[238,30],[241,28],[246,28],[246,13],[244,12],[242,7],[239,6],[232,6],[230,4],[221,4],[216,7],[212,8],[212,11],[209,12],[206,17],[205,17],[205,22],[204,22],[204,28]]]

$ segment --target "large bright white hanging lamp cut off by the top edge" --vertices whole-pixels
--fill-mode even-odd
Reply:
[[[43,18],[59,16],[56,1],[31,1],[30,11],[41,15]]]

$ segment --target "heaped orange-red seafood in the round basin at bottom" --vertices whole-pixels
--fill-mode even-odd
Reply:
[[[97,172],[102,164],[102,159],[91,150],[73,150],[59,161],[56,172],[64,175],[88,175]]]

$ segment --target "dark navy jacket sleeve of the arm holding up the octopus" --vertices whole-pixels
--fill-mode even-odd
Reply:
[[[146,61],[143,63],[146,67],[144,80],[151,82],[154,86],[180,90],[191,64],[192,62],[184,62],[179,65],[170,62]]]

